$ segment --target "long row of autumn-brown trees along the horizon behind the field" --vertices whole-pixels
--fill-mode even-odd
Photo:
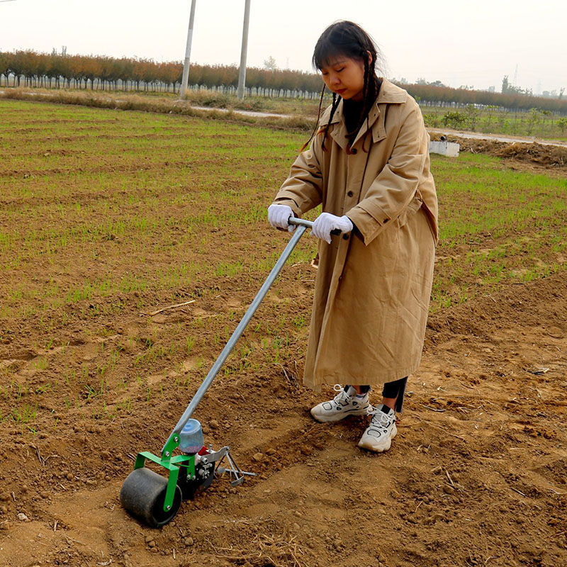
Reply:
[[[34,51],[0,52],[0,84],[82,88],[101,90],[176,91],[181,84],[181,62],[157,63],[152,60],[122,57],[59,55]],[[281,69],[247,69],[249,95],[316,96],[321,78],[315,73]],[[192,64],[189,83],[208,89],[232,91],[238,84],[234,65]],[[496,93],[470,89],[451,89],[440,84],[403,84],[420,103],[435,106],[493,106],[496,108],[541,108],[567,114],[567,101],[527,96],[516,91]]]

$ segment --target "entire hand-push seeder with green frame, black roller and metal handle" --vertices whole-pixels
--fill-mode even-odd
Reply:
[[[150,527],[161,527],[170,522],[179,511],[183,500],[192,500],[199,490],[208,488],[215,478],[223,473],[229,474],[232,486],[242,483],[245,476],[254,476],[254,473],[240,470],[230,454],[229,447],[222,447],[217,451],[213,450],[212,445],[206,447],[201,423],[192,419],[191,415],[262,303],[303,232],[313,226],[313,223],[301,218],[290,218],[289,222],[297,227],[291,240],[179,418],[177,425],[169,434],[161,454],[157,456],[149,451],[138,453],[134,470],[120,489],[120,503],[124,509]],[[340,231],[333,231],[333,234],[340,234]],[[164,469],[167,477],[147,468],[145,466],[147,461],[152,461]]]

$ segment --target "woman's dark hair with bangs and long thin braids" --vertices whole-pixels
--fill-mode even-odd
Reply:
[[[354,131],[349,133],[348,136],[349,145],[347,146],[347,152],[349,152],[351,142],[354,141],[354,138],[360,130],[361,125],[364,123],[365,118],[368,119],[370,108],[376,100],[376,96],[378,96],[380,83],[378,82],[378,77],[376,77],[376,60],[381,61],[381,54],[378,52],[378,48],[376,47],[374,40],[372,40],[370,35],[360,26],[351,21],[338,21],[332,23],[321,34],[315,44],[315,50],[313,51],[313,67],[315,67],[315,69],[327,67],[333,61],[337,60],[337,57],[339,56],[364,62],[364,87],[362,91],[363,102]],[[325,84],[323,84],[321,91],[317,124],[319,123],[321,115],[321,105],[324,94]],[[332,117],[335,115],[335,111],[339,106],[340,100],[341,97],[339,95],[335,93],[332,94],[329,121],[327,122],[327,125],[323,126],[319,130],[319,133],[323,134],[323,150],[325,150],[325,140],[327,139],[327,133],[329,131]],[[313,130],[311,137],[305,143],[303,148],[307,147],[308,143],[313,139],[316,131],[317,125],[315,125],[315,130]]]

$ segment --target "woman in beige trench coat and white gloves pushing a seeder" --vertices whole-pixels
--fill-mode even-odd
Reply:
[[[310,149],[291,167],[268,218],[322,205],[313,223],[319,268],[303,381],[315,391],[339,382],[311,414],[320,422],[371,415],[359,447],[387,451],[405,383],[420,364],[438,238],[429,135],[419,106],[375,71],[378,53],[357,24],[322,33],[313,64],[332,105]],[[333,236],[334,230],[341,235]],[[381,405],[369,404],[383,386]]]

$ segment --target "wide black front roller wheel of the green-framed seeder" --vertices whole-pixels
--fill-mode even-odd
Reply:
[[[150,471],[136,468],[120,488],[120,503],[128,514],[137,517],[150,527],[162,527],[173,520],[181,506],[181,489],[175,487],[171,510],[164,510],[167,478]]]

